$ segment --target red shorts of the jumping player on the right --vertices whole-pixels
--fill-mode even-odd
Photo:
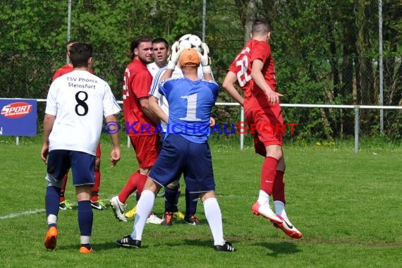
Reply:
[[[282,145],[284,136],[284,118],[279,104],[269,107],[253,107],[245,111],[245,120],[248,126],[255,124],[250,131],[254,135],[254,147],[257,154],[267,155],[265,147],[269,145]]]

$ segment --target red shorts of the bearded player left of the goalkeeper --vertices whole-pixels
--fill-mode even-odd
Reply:
[[[146,169],[153,166],[161,147],[159,135],[134,135],[130,136],[130,141],[140,168]]]

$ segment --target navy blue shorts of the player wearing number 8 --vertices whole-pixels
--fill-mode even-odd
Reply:
[[[95,183],[95,155],[70,150],[51,150],[47,158],[47,181],[59,185],[71,168],[73,185]]]

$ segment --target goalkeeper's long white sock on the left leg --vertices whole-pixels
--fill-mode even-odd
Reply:
[[[140,200],[137,203],[137,213],[135,214],[135,221],[133,226],[133,233],[131,238],[135,240],[142,239],[142,232],[144,231],[147,219],[154,207],[155,194],[151,190],[143,190]]]

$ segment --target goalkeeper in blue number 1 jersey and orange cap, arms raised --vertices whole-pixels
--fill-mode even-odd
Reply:
[[[212,157],[207,143],[209,118],[219,94],[219,85],[212,78],[207,49],[201,55],[195,49],[177,51],[177,48],[177,43],[173,44],[171,59],[159,90],[169,102],[169,126],[162,150],[138,200],[133,232],[116,243],[122,247],[140,248],[142,232],[147,215],[154,207],[155,196],[162,187],[183,173],[190,193],[200,194],[214,238],[214,249],[236,251],[231,243],[224,240],[221,209],[214,192]],[[177,63],[184,77],[174,79],[171,74]],[[205,80],[200,80],[197,75],[200,63]]]

